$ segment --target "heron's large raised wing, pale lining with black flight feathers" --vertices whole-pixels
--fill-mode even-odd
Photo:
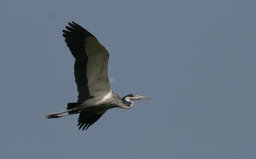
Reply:
[[[109,93],[111,87],[108,80],[108,50],[93,34],[75,22],[68,25],[67,30],[63,30],[63,36],[76,59],[74,75],[79,93],[77,102]]]

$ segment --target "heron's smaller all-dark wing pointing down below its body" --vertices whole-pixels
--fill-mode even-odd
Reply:
[[[106,111],[95,113],[95,112],[87,112],[87,111],[81,111],[79,118],[78,118],[78,124],[79,130],[81,128],[85,128],[87,130],[93,123],[95,123]]]

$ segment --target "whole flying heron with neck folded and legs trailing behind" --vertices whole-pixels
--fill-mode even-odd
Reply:
[[[79,24],[68,22],[65,28],[63,37],[75,59],[74,76],[78,99],[75,103],[68,103],[67,110],[47,114],[45,117],[51,119],[79,114],[77,126],[79,130],[87,130],[109,109],[131,109],[134,106],[133,100],[150,99],[136,94],[120,98],[114,93],[108,79],[108,50]]]

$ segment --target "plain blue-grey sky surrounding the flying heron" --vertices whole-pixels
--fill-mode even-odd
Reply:
[[[0,158],[256,158],[255,1],[0,2]],[[88,131],[77,116],[70,21],[109,53],[113,91],[150,96]]]

